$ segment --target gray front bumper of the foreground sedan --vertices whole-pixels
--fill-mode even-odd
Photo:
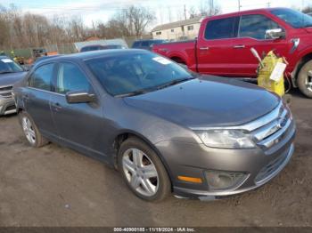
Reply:
[[[281,116],[281,113],[278,114]],[[296,125],[292,117],[287,123],[280,131],[259,141],[256,149],[213,149],[204,144],[180,141],[160,141],[155,146],[166,162],[173,191],[177,197],[211,200],[257,189],[281,173],[291,160],[294,151]],[[259,130],[267,132],[267,124],[272,125],[272,121],[267,120],[266,125],[260,127],[258,125],[252,132],[257,136]],[[234,188],[216,190],[209,187],[205,175],[207,171],[248,175]],[[181,181],[178,176],[201,178],[202,182]]]

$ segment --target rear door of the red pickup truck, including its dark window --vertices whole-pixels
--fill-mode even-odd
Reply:
[[[198,39],[198,69],[202,74],[229,76],[234,60],[233,39],[239,17],[208,20]]]

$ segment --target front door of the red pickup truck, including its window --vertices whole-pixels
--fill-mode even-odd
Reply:
[[[234,38],[234,75],[256,76],[259,61],[252,55],[250,48],[255,48],[259,55],[275,50],[285,56],[291,49],[291,43],[286,38],[269,39],[266,37],[268,29],[281,28],[274,20],[264,14],[242,15],[237,38]],[[287,37],[287,35],[286,35]]]

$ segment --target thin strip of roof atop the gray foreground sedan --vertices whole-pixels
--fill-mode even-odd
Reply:
[[[97,50],[97,51],[78,52],[78,53],[72,53],[69,55],[62,55],[62,56],[51,58],[49,60],[42,60],[40,64],[48,63],[51,61],[58,61],[58,60],[90,60],[90,59],[102,58],[102,57],[113,57],[113,56],[117,57],[119,55],[135,54],[137,52],[148,53],[148,51],[140,50],[140,49]]]

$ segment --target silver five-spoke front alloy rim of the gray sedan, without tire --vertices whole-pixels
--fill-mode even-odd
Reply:
[[[136,192],[152,197],[159,189],[159,175],[152,160],[140,149],[127,149],[122,157],[123,172]]]

